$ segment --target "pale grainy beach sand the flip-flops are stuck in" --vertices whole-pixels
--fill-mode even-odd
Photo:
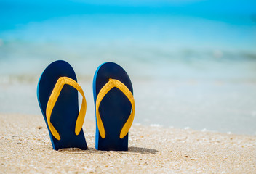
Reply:
[[[128,152],[55,151],[41,115],[0,115],[0,173],[255,173],[256,136],[132,125]]]

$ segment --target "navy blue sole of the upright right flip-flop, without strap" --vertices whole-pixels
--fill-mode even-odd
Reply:
[[[133,93],[132,83],[127,72],[116,63],[106,62],[97,68],[93,79],[95,104],[97,94],[105,83],[108,83],[110,78],[121,81]],[[96,123],[95,147],[97,150],[128,150],[128,133],[124,138],[119,138],[119,136],[121,128],[123,128],[131,113],[131,109],[132,105],[129,99],[118,88],[112,88],[104,96],[100,103],[99,112],[105,128],[105,138],[100,136]]]

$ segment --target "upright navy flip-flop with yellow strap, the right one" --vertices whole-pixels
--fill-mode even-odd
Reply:
[[[128,131],[135,116],[132,83],[113,62],[100,65],[93,78],[97,150],[127,151]]]

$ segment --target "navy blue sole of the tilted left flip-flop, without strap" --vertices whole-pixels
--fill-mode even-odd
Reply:
[[[55,150],[63,148],[87,149],[83,130],[79,135],[75,134],[76,120],[79,115],[78,91],[72,86],[63,86],[55,107],[52,110],[51,123],[60,134],[57,140],[51,133],[47,123],[46,108],[49,96],[60,77],[68,77],[76,80],[76,74],[68,62],[58,60],[52,62],[41,74],[37,87],[37,98],[45,123],[49,131],[52,147]]]

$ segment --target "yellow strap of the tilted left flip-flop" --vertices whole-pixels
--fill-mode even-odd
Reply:
[[[71,78],[68,78],[68,77],[59,78],[57,80],[57,83],[55,84],[55,88],[53,88],[53,90],[52,90],[51,96],[49,96],[49,100],[47,103],[47,123],[49,126],[49,130],[51,130],[52,135],[57,140],[60,140],[60,134],[57,132],[55,127],[52,125],[52,123],[50,122],[50,119],[51,119],[51,115],[52,115],[52,109],[53,109],[53,107],[55,107],[57,98],[60,96],[60,91],[63,89],[63,86],[65,84],[70,85],[73,88],[76,88],[76,90],[81,93],[81,96],[83,96],[79,116],[77,117],[77,120],[76,120],[76,128],[75,128],[76,135],[79,135],[79,133],[81,131],[81,127],[84,124],[85,112],[87,110],[87,101],[85,100],[84,91],[82,90],[81,86],[79,86],[79,84],[76,83],[76,81]]]

